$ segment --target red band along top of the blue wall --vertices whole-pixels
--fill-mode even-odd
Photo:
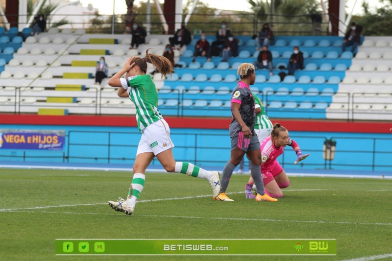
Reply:
[[[230,118],[171,118],[165,117],[172,128],[228,129]],[[332,120],[293,120],[279,119],[279,122],[291,131],[313,132],[355,132],[355,133],[390,133],[392,122],[346,122]],[[133,116],[40,116],[0,114],[0,124],[18,125],[77,125],[77,126],[117,126],[136,127]]]

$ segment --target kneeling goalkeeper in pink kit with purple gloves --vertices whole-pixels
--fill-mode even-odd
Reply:
[[[306,159],[310,154],[302,154],[299,145],[292,139],[289,138],[289,132],[279,123],[275,123],[273,126],[271,135],[261,142],[261,175],[264,182],[264,191],[271,197],[283,197],[282,190],[290,185],[290,180],[286,175],[286,172],[277,162],[277,158],[284,151],[284,148],[289,145],[292,146],[295,153],[297,154],[297,160],[294,164],[299,161]],[[256,196],[252,193],[253,179],[250,177],[248,184],[245,186],[246,198],[255,198]]]

